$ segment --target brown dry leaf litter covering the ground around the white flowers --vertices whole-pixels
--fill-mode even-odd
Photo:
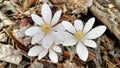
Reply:
[[[99,1],[99,0],[98,0]],[[109,2],[110,1],[110,2]],[[36,13],[41,15],[40,8],[47,2],[52,10],[63,10],[62,20],[73,22],[81,19],[85,22],[93,17],[88,9],[91,2],[89,0],[2,0],[0,1],[0,66],[1,68],[119,68],[120,67],[120,40],[108,29],[107,32],[98,39],[97,48],[88,48],[89,58],[86,62],[74,55],[69,61],[70,54],[66,48],[63,55],[59,55],[59,63],[53,63],[48,56],[36,61],[36,57],[29,57],[28,50],[33,46],[31,37],[25,36],[24,32],[33,26],[30,15]],[[103,1],[101,1],[103,2]],[[100,4],[102,4],[100,2]],[[111,0],[108,0],[111,3]],[[12,3],[12,4],[11,4]],[[107,3],[103,3],[107,4]],[[91,4],[92,5],[92,4]],[[70,6],[70,7],[69,7]],[[79,9],[77,9],[79,8]],[[22,15],[24,14],[24,15]],[[96,21],[95,26],[101,24]],[[102,23],[104,24],[104,23]],[[29,45],[29,46],[28,46]]]

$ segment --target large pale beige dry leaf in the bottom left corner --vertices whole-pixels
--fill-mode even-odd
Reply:
[[[0,44],[0,60],[18,65],[22,55],[13,46]]]

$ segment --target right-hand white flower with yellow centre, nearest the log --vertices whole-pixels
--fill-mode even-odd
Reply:
[[[104,25],[95,27],[91,30],[94,22],[95,18],[89,19],[84,28],[81,20],[75,20],[74,26],[70,22],[62,22],[67,30],[67,36],[69,36],[67,40],[64,40],[63,45],[73,46],[76,44],[76,52],[83,61],[86,61],[88,58],[88,49],[85,46],[96,48],[97,44],[92,39],[100,37],[106,30],[106,26]]]

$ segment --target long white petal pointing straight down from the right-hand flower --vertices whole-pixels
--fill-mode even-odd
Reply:
[[[87,60],[88,49],[81,42],[78,42],[76,51],[81,60],[83,61]]]

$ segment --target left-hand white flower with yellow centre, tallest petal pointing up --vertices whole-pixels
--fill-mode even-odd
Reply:
[[[59,33],[59,28],[62,28],[61,25],[56,25],[60,19],[62,11],[57,11],[53,18],[50,7],[45,3],[42,5],[41,14],[42,17],[39,17],[36,14],[32,14],[31,17],[35,24],[39,26],[30,27],[25,31],[27,36],[32,37],[32,44],[41,43],[45,49],[51,47],[54,41],[60,43],[60,38],[62,37]]]

